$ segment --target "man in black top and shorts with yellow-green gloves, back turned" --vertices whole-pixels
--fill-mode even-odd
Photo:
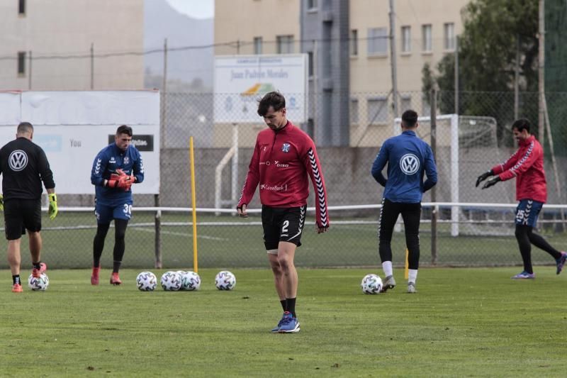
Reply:
[[[47,266],[41,262],[41,193],[42,182],[49,196],[49,216],[57,216],[55,182],[45,152],[33,143],[33,126],[29,122],[18,125],[16,140],[0,149],[2,194],[0,210],[4,210],[8,262],[12,272],[15,293],[22,291],[20,279],[21,235],[29,233],[33,277],[40,277]]]

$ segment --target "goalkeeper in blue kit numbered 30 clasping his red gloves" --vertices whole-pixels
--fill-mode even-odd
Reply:
[[[94,215],[96,235],[93,241],[93,272],[91,284],[99,284],[104,240],[114,220],[114,251],[111,284],[122,283],[118,271],[125,250],[125,235],[132,217],[132,184],[144,181],[144,165],[140,152],[131,145],[132,128],[122,125],[116,130],[114,143],[106,146],[94,158],[91,183],[95,187]]]

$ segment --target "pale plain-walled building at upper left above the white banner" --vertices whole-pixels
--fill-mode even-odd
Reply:
[[[142,89],[144,1],[0,0],[0,89]]]

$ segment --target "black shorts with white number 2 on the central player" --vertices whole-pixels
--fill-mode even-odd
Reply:
[[[307,206],[277,208],[262,205],[262,228],[266,250],[278,249],[279,242],[301,245]]]

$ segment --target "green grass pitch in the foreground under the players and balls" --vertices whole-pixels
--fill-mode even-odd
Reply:
[[[564,377],[567,273],[510,279],[518,271],[420,269],[411,295],[397,269],[398,287],[369,296],[359,285],[371,269],[300,269],[301,332],[280,335],[268,269],[233,269],[234,291],[201,269],[194,292],[140,292],[137,269],[121,287],[108,269],[99,287],[88,270],[49,270],[47,291],[21,294],[1,270],[0,375]]]

